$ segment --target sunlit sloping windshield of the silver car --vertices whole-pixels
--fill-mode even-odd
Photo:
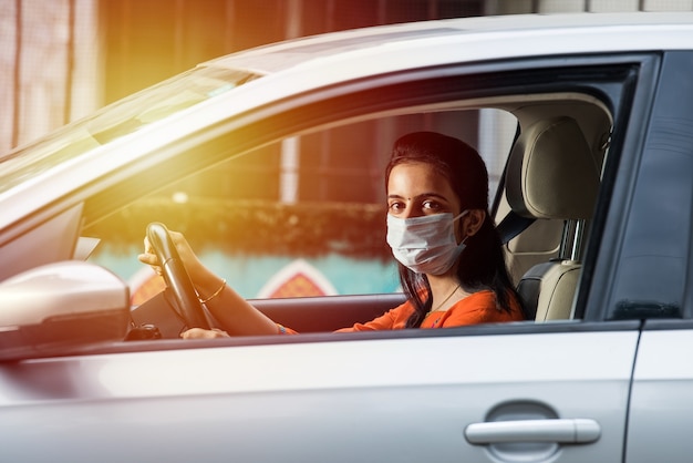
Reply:
[[[0,193],[115,138],[259,78],[197,68],[117,101],[0,158]]]

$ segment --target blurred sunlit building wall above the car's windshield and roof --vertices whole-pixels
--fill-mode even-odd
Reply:
[[[486,14],[693,0],[0,0],[0,153],[200,61],[279,40]]]

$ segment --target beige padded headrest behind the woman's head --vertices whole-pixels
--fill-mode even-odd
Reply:
[[[520,216],[590,218],[599,168],[577,122],[552,117],[523,131],[510,152],[506,185],[508,203]]]

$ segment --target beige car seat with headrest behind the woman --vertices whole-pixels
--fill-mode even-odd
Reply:
[[[551,117],[520,133],[510,158],[506,194],[513,212],[535,219],[590,219],[599,192],[599,167],[578,123]],[[569,318],[580,263],[559,258],[530,268],[517,289],[528,318]]]

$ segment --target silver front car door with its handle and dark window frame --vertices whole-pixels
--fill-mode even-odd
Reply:
[[[354,101],[376,112],[422,99],[442,104],[600,90],[613,109],[618,160],[634,136],[629,122],[645,112],[656,60],[496,65],[432,70],[406,84],[399,75],[394,90],[374,82],[358,99],[317,95],[296,114],[323,123],[330,114],[337,123],[341,111],[353,116]],[[389,97],[395,90],[401,100]],[[280,119],[249,133],[270,136]],[[287,132],[310,122],[287,120],[296,124]],[[619,166],[611,162],[611,173]],[[610,187],[597,214],[623,193]],[[613,270],[616,248],[600,245],[620,230],[601,215],[596,222],[588,276]],[[585,277],[578,318],[551,323],[124,342],[6,362],[0,447],[10,461],[621,461],[640,322],[607,321],[602,285]]]

